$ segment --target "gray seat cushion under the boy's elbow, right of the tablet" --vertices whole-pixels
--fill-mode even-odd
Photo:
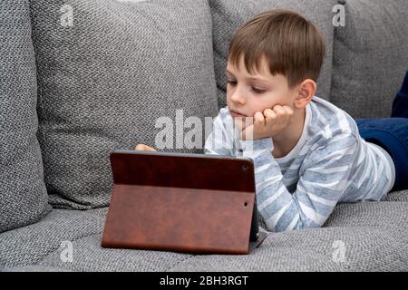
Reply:
[[[327,227],[270,234],[251,255],[193,256],[169,271],[404,271],[407,254],[403,239],[385,227]]]

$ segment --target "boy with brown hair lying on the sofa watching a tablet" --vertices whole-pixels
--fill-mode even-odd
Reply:
[[[408,96],[394,101],[393,117],[404,118],[357,120],[358,128],[315,96],[324,54],[316,26],[286,10],[255,16],[229,45],[228,106],[205,153],[254,161],[257,206],[271,231],[321,227],[338,202],[408,188]]]

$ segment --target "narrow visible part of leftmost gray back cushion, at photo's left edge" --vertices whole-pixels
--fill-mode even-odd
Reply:
[[[34,48],[28,0],[0,5],[0,232],[49,211],[36,138]]]

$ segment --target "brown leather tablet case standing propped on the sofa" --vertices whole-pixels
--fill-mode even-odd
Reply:
[[[252,160],[132,150],[110,158],[102,247],[248,254],[266,237],[258,232]]]

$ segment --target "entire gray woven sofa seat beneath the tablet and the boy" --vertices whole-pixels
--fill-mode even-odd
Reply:
[[[408,190],[400,192],[405,197]],[[102,248],[107,208],[54,209],[36,225],[0,235],[0,268],[8,271],[403,271],[408,265],[408,202],[340,204],[322,228],[268,233],[248,256],[189,255]],[[73,261],[63,262],[64,240]],[[336,242],[337,241],[337,242]],[[335,256],[335,243],[345,259]],[[41,246],[41,247],[40,247]]]

